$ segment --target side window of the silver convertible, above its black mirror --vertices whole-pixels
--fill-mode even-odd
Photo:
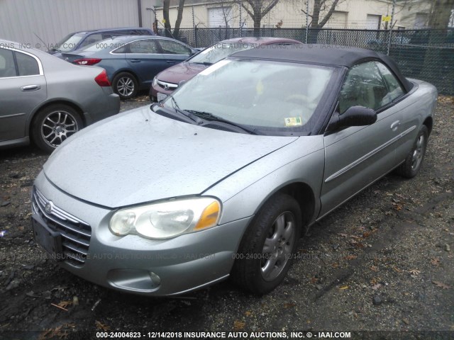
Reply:
[[[389,103],[389,89],[378,68],[378,62],[364,62],[348,71],[339,95],[339,113],[351,106],[377,110]]]

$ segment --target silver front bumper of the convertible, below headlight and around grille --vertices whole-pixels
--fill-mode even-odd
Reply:
[[[98,285],[141,295],[181,294],[227,278],[251,218],[174,239],[117,237],[108,227],[114,210],[62,193],[43,171],[35,180],[35,188],[54,207],[91,227],[83,263],[65,260],[60,261],[61,266]]]

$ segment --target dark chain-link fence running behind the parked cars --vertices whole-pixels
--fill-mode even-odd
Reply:
[[[390,55],[406,77],[429,81],[440,94],[454,95],[454,29],[345,30],[309,28],[184,28],[179,40],[207,47],[240,37],[289,38],[307,43],[362,47]]]

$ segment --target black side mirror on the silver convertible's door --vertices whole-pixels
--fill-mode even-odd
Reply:
[[[338,130],[348,126],[371,125],[377,121],[377,113],[372,108],[352,106],[343,114],[334,113],[328,123],[328,131]]]

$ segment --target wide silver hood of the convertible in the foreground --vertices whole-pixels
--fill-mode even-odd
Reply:
[[[72,196],[118,208],[203,193],[294,140],[203,128],[145,106],[77,132],[55,150],[44,173]]]

